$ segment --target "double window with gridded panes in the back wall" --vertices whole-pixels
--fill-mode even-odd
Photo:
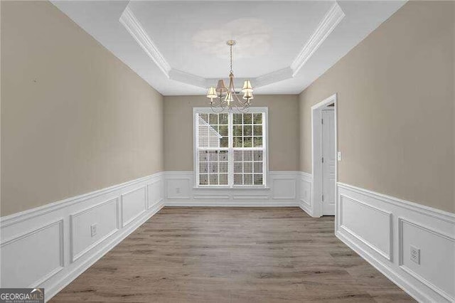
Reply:
[[[213,113],[194,109],[196,186],[265,186],[267,108]]]

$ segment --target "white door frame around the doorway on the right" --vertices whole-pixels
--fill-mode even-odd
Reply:
[[[337,183],[338,183],[338,110],[336,93],[311,107],[311,168],[313,172],[313,182],[311,182],[311,192],[313,193],[312,215],[321,217],[322,214],[322,110],[333,103],[334,125],[335,125],[335,207],[337,206]],[[335,219],[336,220],[336,219]]]

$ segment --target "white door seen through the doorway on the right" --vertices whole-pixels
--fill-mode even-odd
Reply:
[[[335,111],[322,110],[322,214],[335,216]]]

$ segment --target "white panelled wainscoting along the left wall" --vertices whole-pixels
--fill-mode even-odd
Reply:
[[[160,172],[0,218],[0,287],[44,287],[45,299],[53,297],[164,206],[162,178]]]

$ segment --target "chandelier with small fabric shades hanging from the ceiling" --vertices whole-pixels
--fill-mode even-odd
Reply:
[[[253,87],[250,80],[245,80],[242,87],[243,97],[240,100],[235,92],[234,72],[232,71],[232,46],[235,46],[235,41],[228,40],[226,44],[230,47],[229,86],[226,87],[225,80],[218,80],[216,87],[208,89],[207,97],[210,99],[209,103],[213,112],[222,112],[225,108],[232,110],[233,107],[243,112],[250,107],[250,101],[253,99]]]

